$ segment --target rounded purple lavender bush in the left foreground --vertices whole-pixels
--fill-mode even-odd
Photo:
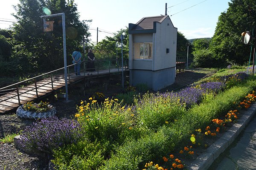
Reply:
[[[34,122],[22,131],[18,142],[25,150],[52,150],[76,143],[81,137],[81,126],[75,120],[58,119],[56,116]]]

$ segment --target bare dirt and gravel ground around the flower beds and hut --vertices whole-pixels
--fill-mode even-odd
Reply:
[[[199,79],[208,77],[213,74],[212,71],[205,71],[200,69],[185,70],[178,72],[175,78],[175,83],[161,90],[164,92],[174,91],[186,87]],[[126,85],[127,86],[127,85]],[[90,86],[81,91],[79,85],[69,88],[69,100],[56,99],[54,96],[48,96],[49,101],[56,107],[58,118],[72,118],[76,113],[76,105],[79,105],[81,100],[88,100],[95,92],[101,92],[107,97],[115,96],[122,89],[120,82],[115,79],[110,81],[110,84],[91,82]],[[20,130],[31,125],[34,120],[22,119],[16,116],[15,112],[0,115],[0,138],[7,134],[18,133]],[[28,155],[14,147],[14,144],[0,143],[0,170],[47,170],[48,162],[45,159],[38,158],[35,155]]]

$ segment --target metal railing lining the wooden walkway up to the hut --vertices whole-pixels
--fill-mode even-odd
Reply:
[[[97,75],[99,75],[99,71],[100,70],[107,70],[108,69],[109,70],[108,71],[109,74],[111,73],[111,68],[117,68],[117,70],[119,71],[119,68],[121,67],[120,65],[122,65],[122,62],[120,62],[120,61],[121,61],[120,59],[118,59],[118,60],[116,60],[116,59],[98,59],[98,60],[94,60],[95,70],[97,72]],[[88,61],[82,61],[81,62],[82,68],[80,69],[80,72],[81,73],[83,72],[84,76],[86,75],[87,62]],[[67,72],[68,72],[67,79],[68,79],[68,81],[70,81],[70,76],[75,74],[75,72],[70,71],[70,69],[74,65],[76,65],[76,64],[72,64],[72,65],[68,65],[67,66]],[[124,64],[123,65],[124,65],[124,69],[125,70],[128,69],[128,59],[124,60]],[[63,70],[63,72],[62,72],[62,70]],[[21,105],[21,103],[20,103],[20,95],[21,94],[25,94],[26,92],[35,90],[36,96],[38,97],[38,88],[40,88],[42,86],[45,86],[45,85],[51,85],[51,88],[52,88],[52,91],[53,91],[54,90],[53,83],[57,82],[60,79],[64,79],[64,75],[63,75],[63,77],[60,77],[60,78],[57,78],[57,79],[55,77],[53,79],[53,76],[57,75],[59,71],[64,73],[64,67],[63,68],[59,68],[59,69],[54,70],[54,71],[47,72],[45,74],[41,74],[41,75],[36,76],[36,77],[32,77],[30,79],[23,80],[21,82],[17,82],[17,83],[12,84],[12,85],[8,85],[8,86],[3,87],[3,88],[0,88],[0,91],[1,90],[5,90],[5,89],[9,89],[9,88],[15,88],[15,90],[17,91],[17,95],[12,96],[12,97],[7,97],[6,99],[2,99],[1,102],[6,101],[8,99],[12,99],[13,97],[17,96],[18,103],[19,103],[19,105]],[[50,82],[44,83],[43,85],[37,85],[38,81],[41,81],[41,80],[46,79],[46,78],[50,78]],[[33,88],[29,87],[29,89],[22,89],[23,86],[31,85],[33,83],[35,84],[34,85],[35,87],[33,87]],[[25,91],[20,92],[19,89],[22,89],[22,90],[25,90]]]

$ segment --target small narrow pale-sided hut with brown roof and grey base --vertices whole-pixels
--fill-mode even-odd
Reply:
[[[130,85],[158,91],[175,81],[177,28],[168,15],[129,23]]]

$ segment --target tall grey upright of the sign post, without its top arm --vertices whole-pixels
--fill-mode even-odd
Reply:
[[[67,52],[66,52],[65,13],[62,13],[62,30],[63,30],[63,53],[64,53],[65,91],[66,91],[66,100],[68,100],[68,93],[67,93]]]

